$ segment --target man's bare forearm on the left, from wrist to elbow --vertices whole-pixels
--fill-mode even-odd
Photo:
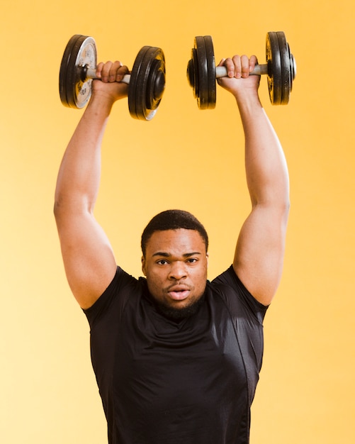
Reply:
[[[92,211],[101,174],[101,142],[112,101],[92,96],[64,153],[55,209]]]

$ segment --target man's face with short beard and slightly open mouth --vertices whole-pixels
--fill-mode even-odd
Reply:
[[[142,271],[155,301],[170,312],[188,311],[205,291],[208,253],[198,231],[155,231],[147,242]]]

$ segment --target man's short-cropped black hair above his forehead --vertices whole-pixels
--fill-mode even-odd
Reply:
[[[193,214],[184,210],[166,210],[154,216],[142,233],[140,246],[143,257],[145,256],[147,242],[155,231],[179,230],[179,228],[198,231],[201,238],[203,238],[206,251],[208,251],[207,231]]]

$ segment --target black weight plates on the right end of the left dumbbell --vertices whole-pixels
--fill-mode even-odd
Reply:
[[[130,74],[130,115],[150,121],[157,112],[165,88],[165,58],[160,48],[144,46],[138,52]]]

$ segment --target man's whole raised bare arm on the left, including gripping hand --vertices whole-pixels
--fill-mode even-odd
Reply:
[[[60,165],[55,189],[55,221],[72,292],[89,308],[108,287],[116,270],[108,238],[94,218],[101,173],[101,141],[114,102],[127,95],[118,83],[127,74],[120,62],[99,64],[101,81],[72,135]]]

